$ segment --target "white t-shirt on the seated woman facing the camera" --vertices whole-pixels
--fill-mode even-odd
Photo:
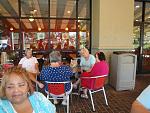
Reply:
[[[38,63],[36,57],[31,58],[23,57],[19,62],[19,64],[22,65],[22,68],[25,68],[28,72],[31,73],[37,73],[37,70],[35,68],[36,63]]]

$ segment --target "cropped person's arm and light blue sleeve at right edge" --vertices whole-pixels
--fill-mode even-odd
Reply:
[[[131,113],[150,113],[150,85],[133,102]]]

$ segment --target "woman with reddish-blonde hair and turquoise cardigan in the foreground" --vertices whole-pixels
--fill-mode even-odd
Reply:
[[[29,74],[20,67],[8,69],[0,88],[0,113],[55,113],[46,97],[34,92]]]

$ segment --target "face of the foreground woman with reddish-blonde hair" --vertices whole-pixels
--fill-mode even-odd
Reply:
[[[28,97],[29,91],[28,84],[25,80],[16,74],[11,74],[5,88],[7,99],[12,104],[20,104],[24,102]]]

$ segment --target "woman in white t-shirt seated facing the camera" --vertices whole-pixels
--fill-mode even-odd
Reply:
[[[44,85],[36,80],[36,76],[39,74],[39,68],[37,59],[32,56],[32,49],[26,49],[25,55],[26,56],[20,60],[18,66],[25,68],[30,74],[30,79],[38,84],[40,88],[43,88]]]

